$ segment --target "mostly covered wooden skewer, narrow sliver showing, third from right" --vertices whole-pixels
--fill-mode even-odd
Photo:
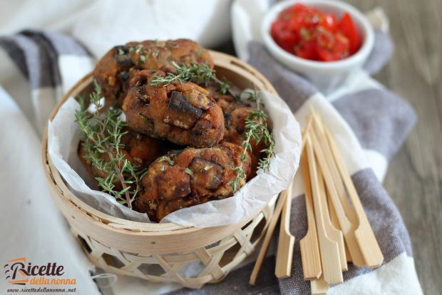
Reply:
[[[324,210],[324,225],[327,237],[338,244],[339,249],[339,262],[341,262],[341,270],[346,271],[349,269],[347,266],[347,259],[345,256],[344,247],[344,237],[342,237],[342,232],[335,229],[332,226],[332,221],[330,220],[329,205],[327,205],[327,192],[325,190],[324,178],[322,177],[322,172],[318,171],[318,182],[319,182],[319,201],[321,202],[321,207]]]

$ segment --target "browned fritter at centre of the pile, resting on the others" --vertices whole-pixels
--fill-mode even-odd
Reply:
[[[123,111],[130,128],[178,145],[210,147],[222,140],[224,116],[207,90],[192,82],[150,85],[163,71],[139,71]]]

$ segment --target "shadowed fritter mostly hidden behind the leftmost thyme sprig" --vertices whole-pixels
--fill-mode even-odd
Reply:
[[[148,135],[138,133],[128,127],[125,127],[123,131],[127,133],[121,138],[121,143],[125,146],[120,151],[125,155],[125,159],[132,165],[143,168],[148,167],[150,163],[160,157],[160,155],[165,155],[165,153],[170,150],[177,148],[176,145],[151,138]],[[82,142],[78,144],[78,156],[92,177],[106,177],[106,171],[98,170],[91,165],[91,161],[86,158],[86,150]],[[108,160],[108,158],[105,158],[105,160]],[[120,187],[118,180],[115,180],[114,184]]]

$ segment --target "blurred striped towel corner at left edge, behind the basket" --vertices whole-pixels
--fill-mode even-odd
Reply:
[[[95,66],[88,50],[61,33],[25,30],[0,37],[1,87],[41,135],[63,93]]]

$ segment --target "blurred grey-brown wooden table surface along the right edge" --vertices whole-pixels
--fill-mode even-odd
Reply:
[[[425,294],[442,294],[442,0],[349,0],[381,6],[396,49],[376,79],[408,100],[418,123],[384,185],[404,218]]]

